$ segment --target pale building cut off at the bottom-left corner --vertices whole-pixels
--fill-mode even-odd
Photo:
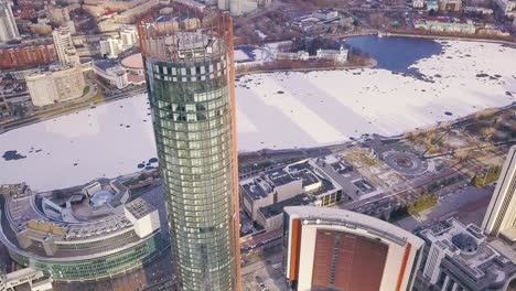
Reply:
[[[7,273],[3,277],[3,280],[0,278],[0,290],[50,291],[52,290],[52,278],[46,277],[42,271],[32,268],[24,268]]]

